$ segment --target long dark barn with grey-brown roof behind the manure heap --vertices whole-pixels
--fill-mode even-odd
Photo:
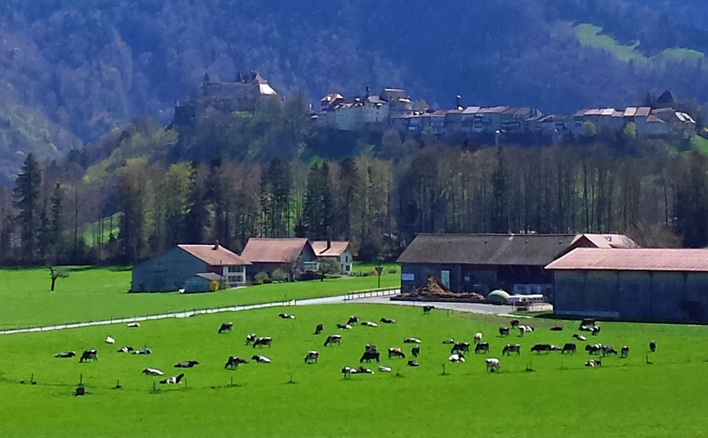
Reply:
[[[577,247],[636,247],[624,235],[426,235],[401,254],[401,289],[421,288],[434,276],[453,292],[486,295],[501,288],[513,294],[552,298],[553,274],[544,267]]]

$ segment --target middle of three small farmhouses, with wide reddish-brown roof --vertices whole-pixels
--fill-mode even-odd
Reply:
[[[251,262],[249,279],[258,272],[273,276],[275,269],[282,269],[291,281],[319,270],[317,255],[307,239],[249,239],[241,257]]]

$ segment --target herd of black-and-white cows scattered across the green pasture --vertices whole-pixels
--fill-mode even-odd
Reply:
[[[429,314],[431,310],[433,310],[434,307],[430,305],[423,306],[423,313],[424,314]],[[289,319],[293,320],[295,319],[295,315],[289,315],[287,313],[280,313],[278,315],[282,319]],[[396,324],[396,320],[393,320],[391,318],[381,318],[379,320],[383,324]],[[346,324],[336,324],[336,327],[339,330],[351,330],[353,326],[355,325],[360,325],[364,327],[377,327],[377,323],[371,322],[371,321],[363,321],[360,322],[359,317],[352,315],[346,322]],[[131,323],[128,325],[129,327],[139,327],[139,323]],[[219,327],[218,333],[219,335],[227,333],[227,332],[232,332],[234,329],[234,325],[232,322],[223,322],[222,325]],[[510,332],[512,329],[516,329],[519,331],[519,337],[523,337],[526,333],[529,332],[534,332],[535,329],[534,327],[531,327],[530,325],[521,325],[519,320],[511,320],[510,321],[510,327],[499,327],[499,336],[500,337],[508,337],[510,335]],[[563,330],[562,327],[552,327],[552,331],[561,331]],[[581,322],[580,327],[578,327],[578,330],[580,332],[590,332],[593,336],[598,336],[600,334],[600,327],[595,323],[594,320],[586,319]],[[315,327],[314,330],[314,335],[320,335],[324,331],[324,325],[318,324]],[[469,354],[469,352],[472,350],[472,345],[474,345],[474,354],[489,354],[490,352],[490,345],[489,342],[484,342],[483,340],[483,335],[481,332],[478,332],[474,335],[473,342],[458,342],[455,339],[444,339],[442,341],[442,344],[450,344],[452,345],[451,350],[450,350],[450,356],[447,358],[448,361],[452,363],[464,363],[465,361],[465,354]],[[573,334],[573,339],[576,339],[578,341],[586,341],[587,338],[583,335],[579,334]],[[105,342],[107,344],[114,344],[115,339],[113,337],[106,337]],[[330,347],[333,345],[341,345],[342,342],[342,335],[329,335],[326,337],[326,340],[324,341],[324,347]],[[418,361],[416,360],[418,356],[421,355],[421,339],[418,339],[416,337],[408,337],[403,340],[404,344],[414,344],[413,347],[411,348],[411,355],[413,356],[411,359],[407,361],[408,366],[420,366]],[[271,337],[259,337],[255,333],[251,333],[249,335],[246,335],[246,346],[252,346],[253,349],[256,347],[272,347],[273,344],[273,338]],[[561,354],[575,354],[577,352],[577,345],[573,342],[567,342],[564,344],[563,347],[556,346],[554,344],[535,344],[533,347],[531,347],[530,352],[536,352],[537,354],[541,354],[542,352],[545,352],[547,354],[551,352],[560,352]],[[651,352],[656,352],[656,342],[651,341],[649,343],[649,349]],[[603,344],[587,344],[585,347],[586,352],[590,355],[595,355],[595,354],[602,354],[603,357],[605,356],[610,356],[611,354],[615,354],[615,356],[618,354],[617,350],[614,349],[610,345],[603,345]],[[143,355],[143,354],[152,354],[152,349],[149,348],[142,348],[142,349],[134,349],[133,347],[130,346],[123,346],[118,349],[118,353],[131,353],[131,354],[136,354],[136,355]],[[501,349],[501,354],[502,356],[510,356],[511,354],[515,353],[517,356],[521,354],[521,345],[520,344],[506,344],[503,349]],[[619,354],[621,354],[621,357],[627,358],[629,356],[629,347],[626,345],[620,349]],[[55,357],[61,358],[61,359],[68,359],[76,356],[76,352],[60,352],[55,354]],[[387,350],[387,359],[406,359],[406,353],[404,352],[403,349],[400,347],[391,347]],[[253,354],[251,356],[252,361],[256,361],[258,364],[270,364],[270,358],[260,355],[260,354]],[[311,350],[307,352],[306,356],[304,357],[304,363],[305,364],[316,364],[319,360],[319,352],[316,352],[315,350]],[[373,374],[374,371],[372,371],[369,368],[366,368],[363,366],[364,362],[367,364],[370,364],[371,361],[375,360],[378,364],[380,364],[381,361],[381,352],[379,352],[379,349],[377,348],[376,345],[374,344],[367,344],[365,346],[365,350],[362,354],[362,356],[359,359],[359,366],[355,367],[350,367],[350,366],[344,366],[343,369],[341,370],[342,374],[344,374],[345,378],[349,378],[352,374]],[[84,352],[82,352],[81,357],[79,358],[79,363],[84,363],[84,362],[89,362],[89,361],[98,361],[98,351],[96,349],[86,349]],[[224,369],[229,369],[229,370],[235,370],[239,367],[240,364],[248,364],[249,361],[238,357],[238,356],[229,356],[229,358],[226,361],[226,364],[224,364]],[[181,369],[191,369],[194,366],[197,366],[199,364],[198,361],[195,360],[187,360],[187,361],[179,361],[177,364],[174,365],[175,368],[181,368]],[[490,357],[486,359],[485,361],[486,364],[486,369],[487,371],[494,372],[498,371],[501,368],[501,364],[499,359],[496,357]],[[595,366],[602,366],[602,361],[600,359],[591,359],[589,361],[586,361],[586,366],[588,367],[595,367]],[[392,369],[389,366],[384,366],[384,365],[379,365],[378,370],[380,372],[391,372]],[[142,374],[148,375],[148,376],[164,376],[164,373],[160,371],[159,369],[152,369],[152,368],[146,368],[142,371]],[[184,374],[178,374],[177,376],[173,376],[170,378],[165,378],[160,381],[160,383],[163,384],[178,384],[183,381]]]

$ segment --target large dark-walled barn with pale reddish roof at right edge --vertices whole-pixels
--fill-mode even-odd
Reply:
[[[546,269],[559,315],[708,321],[705,249],[575,249]]]

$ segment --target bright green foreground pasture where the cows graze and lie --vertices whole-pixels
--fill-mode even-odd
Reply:
[[[552,332],[552,322],[535,320],[523,338],[498,338],[506,320],[383,305],[329,305],[290,308],[295,320],[280,320],[278,309],[183,320],[91,327],[60,332],[0,337],[0,417],[2,437],[213,436],[226,430],[239,436],[307,437],[698,437],[708,425],[704,405],[708,391],[702,378],[708,359],[708,327],[604,323],[595,342],[632,348],[629,359],[608,358],[603,367],[583,366],[587,354],[530,354],[532,344],[563,344],[576,323]],[[362,320],[384,316],[396,325],[355,327],[340,332],[341,347],[322,347],[336,322],[358,314]],[[217,335],[224,320],[234,332]],[[314,326],[326,326],[323,335]],[[472,340],[484,333],[491,354],[469,354],[464,364],[446,361],[449,346],[441,340]],[[272,364],[223,369],[227,356],[251,356],[244,346],[249,332],[273,337],[273,347],[259,351]],[[117,344],[103,344],[106,335]],[[422,340],[419,368],[400,359],[383,359],[394,373],[353,376],[343,380],[342,366],[355,366],[367,343],[379,349],[404,347],[404,337]],[[653,364],[645,363],[647,344],[656,339]],[[508,342],[523,345],[520,357],[502,357]],[[152,347],[152,356],[115,352],[119,345]],[[56,352],[97,348],[99,361],[54,359]],[[582,347],[582,345],[581,345]],[[320,352],[319,364],[305,365],[309,349]],[[501,359],[501,372],[488,374],[484,359]],[[195,359],[184,386],[151,393],[156,378],[142,376],[147,366],[177,374],[173,364]],[[442,376],[442,364],[447,375]],[[533,372],[524,371],[528,365]],[[372,369],[376,364],[371,365]],[[396,371],[400,376],[396,376]],[[30,386],[34,374],[36,386]],[[89,395],[72,396],[83,374]],[[234,386],[231,386],[233,378]],[[295,383],[288,384],[288,381]],[[19,383],[24,380],[25,383]],[[120,380],[122,388],[114,389]],[[235,433],[235,432],[234,432]]]

